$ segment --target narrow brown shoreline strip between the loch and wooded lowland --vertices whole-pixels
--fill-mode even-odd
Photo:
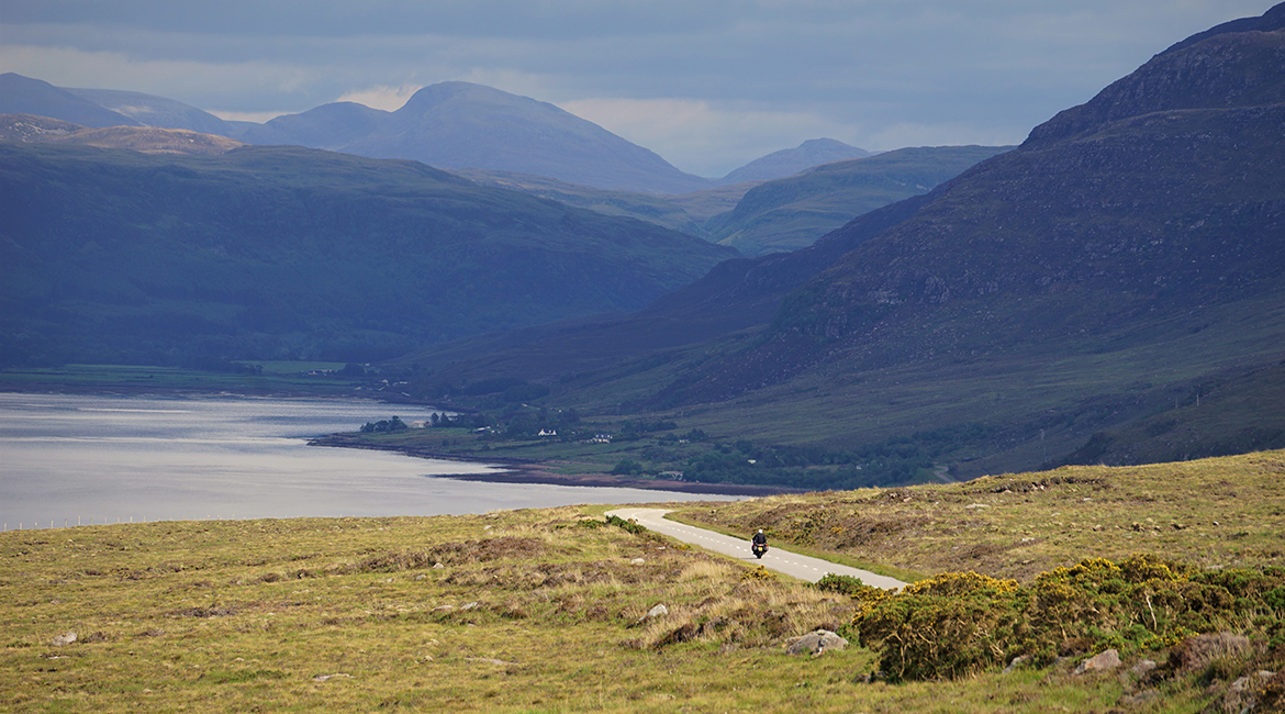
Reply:
[[[801,493],[801,491],[798,489],[767,487],[767,485],[714,484],[714,483],[677,482],[677,480],[664,480],[664,479],[636,479],[636,478],[613,476],[610,474],[578,474],[578,475],[555,474],[546,470],[544,462],[541,461],[514,458],[506,456],[483,457],[483,456],[474,456],[472,453],[442,452],[423,447],[411,447],[401,444],[371,444],[366,442],[359,442],[353,437],[344,434],[330,434],[328,437],[308,439],[308,446],[387,451],[392,453],[402,453],[405,456],[411,456],[415,458],[434,458],[438,461],[464,461],[469,464],[488,464],[504,469],[502,471],[496,471],[492,474],[447,474],[441,476],[433,476],[433,478],[455,479],[464,482],[532,483],[532,484],[538,483],[545,485],[581,485],[581,487],[594,487],[594,488],[637,488],[644,491],[669,491],[675,493],[693,493],[693,494],[708,494],[708,496],[758,497],[758,496],[780,496],[784,493]]]

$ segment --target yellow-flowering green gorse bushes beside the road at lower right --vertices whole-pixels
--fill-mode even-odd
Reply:
[[[1169,647],[1246,627],[1273,643],[1285,632],[1285,568],[1198,571],[1155,556],[1090,559],[1029,586],[947,573],[882,598],[852,593],[862,642],[893,679],[957,678],[1018,655],[1047,664],[1114,647]]]

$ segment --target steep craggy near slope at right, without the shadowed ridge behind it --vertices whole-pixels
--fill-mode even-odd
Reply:
[[[1015,458],[965,466],[977,473],[1146,416],[1186,380],[1280,360],[1282,46],[1282,32],[1222,33],[1158,55],[930,194],[788,298],[753,347],[658,403],[757,393],[817,414],[819,397],[780,401],[825,384],[830,403],[858,405],[849,420],[993,430],[970,456]],[[883,403],[946,401],[889,414],[856,398],[876,387]]]

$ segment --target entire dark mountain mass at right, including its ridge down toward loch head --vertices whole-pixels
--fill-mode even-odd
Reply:
[[[1183,431],[1185,453],[1273,443],[1227,434],[1280,421],[1235,398],[1279,379],[1285,357],[1285,31],[1259,30],[1280,8],[1174,45],[1019,148],[807,250],[723,263],[576,333],[576,352],[533,329],[484,363],[583,414],[879,442],[960,478],[1083,458],[1095,434],[1128,453],[1127,425],[1159,433],[1201,408],[1187,405],[1200,384],[1225,385],[1201,402],[1218,429]],[[644,345],[595,362],[594,330]],[[470,363],[454,361],[424,366],[466,383]]]

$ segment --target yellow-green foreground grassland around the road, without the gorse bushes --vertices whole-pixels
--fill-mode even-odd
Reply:
[[[732,530],[772,519],[784,532],[795,514],[820,524],[788,534],[812,550],[924,574],[1023,578],[1146,548],[1201,568],[1282,562],[1285,453],[1148,469],[775,497],[687,518]],[[912,521],[885,533],[817,520],[819,507]],[[0,710],[1200,711],[1230,701],[1240,674],[1201,670],[1149,696],[1133,661],[1123,675],[1077,675],[1067,661],[867,682],[879,654],[851,632],[843,651],[784,649],[846,628],[857,601],[603,525],[603,510],[0,533]],[[932,555],[946,551],[965,555]],[[657,605],[668,614],[648,618]],[[76,641],[55,645],[67,632]]]

